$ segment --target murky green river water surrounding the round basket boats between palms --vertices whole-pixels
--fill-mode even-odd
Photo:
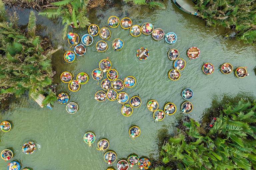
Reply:
[[[226,32],[220,27],[205,27],[205,22],[200,18],[189,15],[178,9],[172,1],[165,3],[166,9],[150,10],[148,7],[117,4],[114,8],[100,8],[90,11],[89,19],[100,28],[107,25],[107,19],[116,15],[121,20],[124,17],[132,19],[133,24],[142,25],[150,22],[155,28],[161,28],[168,32],[174,32],[178,40],[174,44],[167,44],[164,40],[154,41],[151,36],[141,34],[132,37],[128,30],[120,26],[111,30],[111,41],[107,41],[108,49],[105,52],[95,51],[95,44],[100,39],[94,38],[91,46],[86,46],[87,52],[76,58],[77,62],[66,63],[63,59],[65,51],[69,50],[66,40],[61,39],[61,21],[51,21],[38,17],[37,31],[41,36],[49,36],[55,48],[62,46],[53,57],[53,66],[57,74],[54,82],[58,83],[58,92],[66,92],[70,95],[70,101],[79,105],[79,111],[68,114],[65,105],[55,104],[53,109],[41,109],[39,105],[23,95],[14,99],[10,109],[0,115],[1,121],[10,121],[12,129],[9,132],[0,132],[0,150],[11,148],[14,158],[22,164],[22,168],[31,170],[61,170],[84,169],[105,170],[109,166],[103,159],[103,152],[97,150],[97,142],[107,138],[110,142],[109,149],[117,153],[117,160],[127,158],[131,153],[139,157],[146,156],[149,159],[158,159],[158,144],[166,134],[171,134],[175,126],[184,114],[180,106],[184,102],[179,92],[185,88],[194,91],[194,97],[190,100],[193,110],[187,114],[189,117],[200,121],[207,109],[223,98],[241,98],[256,96],[255,76],[255,46],[245,45],[236,40],[224,40],[221,35]],[[27,24],[30,10],[19,11],[20,22]],[[103,14],[103,17],[97,17]],[[80,37],[87,34],[86,29],[72,29]],[[120,38],[124,47],[120,51],[114,51],[111,42]],[[200,56],[190,60],[186,55],[188,48],[197,46]],[[145,61],[137,59],[135,52],[140,47],[150,49],[149,58]],[[178,81],[168,81],[167,72],[173,68],[173,61],[167,57],[169,48],[176,48],[180,57],[186,61],[184,70],[181,70],[181,78]],[[112,68],[119,73],[119,78],[124,79],[131,75],[136,78],[133,88],[125,88],[123,91],[129,97],[139,95],[142,104],[134,108],[130,117],[121,114],[121,105],[116,101],[105,100],[97,102],[94,95],[101,90],[97,81],[91,77],[93,69],[98,68],[101,59],[109,57]],[[215,71],[211,75],[202,72],[204,62],[214,65]],[[250,74],[245,78],[236,78],[233,73],[224,75],[218,68],[228,62],[233,67],[247,67]],[[68,90],[68,84],[60,81],[60,74],[69,71],[75,76],[79,72],[89,75],[89,81],[77,92]],[[106,78],[106,74],[104,74]],[[154,123],[152,112],[147,109],[149,99],[154,99],[162,109],[166,102],[176,105],[174,115],[165,117],[162,122]],[[131,139],[128,130],[131,125],[137,125],[141,134],[135,140]],[[88,147],[83,140],[85,132],[92,131],[96,135],[96,142]],[[36,151],[31,155],[22,153],[20,145],[27,141],[34,141]],[[0,161],[0,169],[6,169],[8,162]],[[117,161],[112,164],[115,169]],[[137,169],[137,165],[134,167]]]

